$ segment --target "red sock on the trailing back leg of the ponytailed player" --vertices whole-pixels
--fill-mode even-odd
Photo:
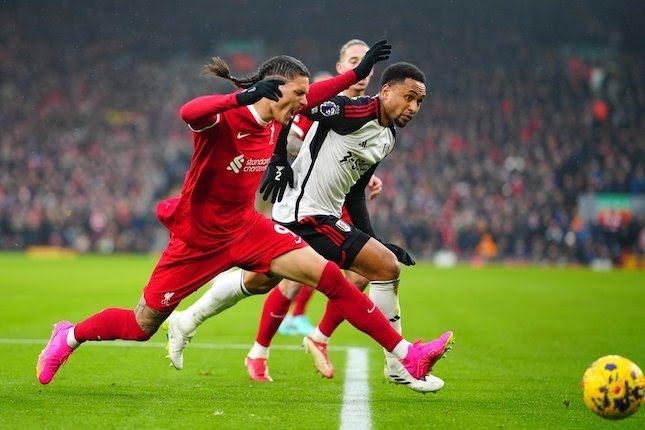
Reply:
[[[139,327],[132,309],[105,309],[74,326],[78,342],[86,340],[139,340],[150,339]]]

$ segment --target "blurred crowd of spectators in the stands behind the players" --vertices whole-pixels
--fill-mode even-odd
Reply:
[[[344,41],[378,37],[367,24],[341,31],[343,20],[327,29],[340,36],[317,37],[333,16],[313,7],[320,22],[282,45],[267,35],[264,55],[294,55],[314,73],[333,70]],[[122,17],[105,11],[96,25],[100,11],[65,2],[46,11],[46,24],[25,22],[28,13],[0,13],[0,249],[159,251],[167,233],[156,202],[178,192],[192,149],[177,111],[232,90],[199,76],[217,45],[199,25],[186,23],[179,37],[146,32],[154,19],[139,17],[139,31],[128,31]],[[52,24],[76,14],[84,24]],[[404,18],[390,24],[404,28],[414,16]],[[419,65],[429,94],[378,169],[384,191],[368,203],[375,230],[419,259],[439,250],[566,264],[642,257],[643,214],[586,219],[578,206],[583,193],[645,194],[642,51],[597,22],[581,24],[593,40],[571,43],[540,43],[521,22],[495,24],[486,37],[446,20],[427,41],[390,37],[393,60]]]

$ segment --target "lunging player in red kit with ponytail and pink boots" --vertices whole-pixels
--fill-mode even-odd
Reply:
[[[390,49],[380,41],[353,71],[311,86],[306,67],[292,57],[273,57],[245,79],[232,77],[221,59],[213,59],[207,70],[244,90],[198,97],[181,108],[192,129],[194,153],[181,197],[157,207],[170,242],[141,300],[134,310],[109,308],[76,325],[56,323],[38,357],[39,382],[50,383],[83,342],[150,339],[183,298],[234,266],[263,276],[264,285],[284,277],[317,288],[354,326],[399,358],[412,376],[422,378],[440,353],[436,346],[403,339],[338,266],[254,209],[280,124],[367,76],[375,62],[389,58]]]

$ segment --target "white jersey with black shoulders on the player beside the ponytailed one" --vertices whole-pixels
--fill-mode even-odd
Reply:
[[[273,219],[288,224],[313,215],[341,216],[358,179],[394,149],[395,129],[378,120],[378,97],[337,96],[305,112],[315,122],[291,167],[294,188],[273,205]]]

